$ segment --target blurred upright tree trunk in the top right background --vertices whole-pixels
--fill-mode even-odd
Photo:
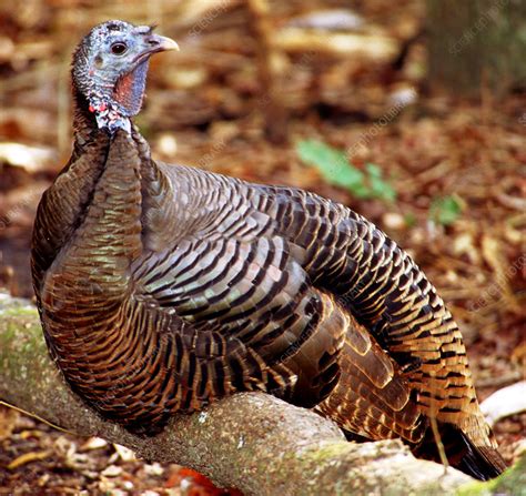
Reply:
[[[526,87],[526,2],[427,0],[429,80],[455,94]]]

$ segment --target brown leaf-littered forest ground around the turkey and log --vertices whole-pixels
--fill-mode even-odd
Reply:
[[[0,286],[24,297],[32,297],[29,251],[36,207],[70,151],[67,53],[92,13],[82,2],[33,3],[51,13],[0,9]],[[138,121],[153,155],[249,181],[304,188],[362,213],[412,254],[446,301],[465,337],[479,399],[524,379],[525,94],[516,91],[496,101],[483,90],[474,100],[428,91],[422,69],[425,42],[415,41],[402,67],[388,58],[351,63],[294,53],[269,113],[257,100],[257,40],[245,32],[240,3],[203,10],[199,23],[180,26],[163,18],[159,30],[182,38],[183,53],[188,37],[200,41],[188,42],[181,59],[159,58],[152,64]],[[365,3],[356,12],[397,40],[398,49],[422,24],[422,2],[405,1],[391,10],[388,2]],[[82,12],[81,20],[71,12]],[[110,16],[102,7],[94,12],[93,22]],[[79,29],[67,29],[72,26]],[[393,100],[407,94],[408,104]],[[286,139],[277,144],[265,135],[270,115],[286,123]],[[307,139],[345,150],[360,171],[377,165],[395,200],[358,199],[323,180],[296,151]],[[498,422],[495,434],[512,463],[526,449],[526,413]],[[125,448],[75,438],[0,407],[2,494],[226,493],[192,470],[138,460]]]

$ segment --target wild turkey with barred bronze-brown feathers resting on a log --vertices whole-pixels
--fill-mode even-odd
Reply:
[[[32,241],[44,335],[73,391],[151,434],[261,389],[429,458],[434,417],[454,466],[499,474],[461,332],[403,250],[315,194],[151,159],[130,118],[149,58],[175,48],[109,21],[74,53],[74,150]]]

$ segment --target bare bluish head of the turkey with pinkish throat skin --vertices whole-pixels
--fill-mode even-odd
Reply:
[[[153,53],[179,50],[150,26],[108,21],[95,26],[73,57],[73,87],[84,97],[100,129],[131,132],[130,118],[141,110],[148,64]]]

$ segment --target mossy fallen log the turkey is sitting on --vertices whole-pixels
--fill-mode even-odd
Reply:
[[[246,495],[453,494],[471,477],[413,457],[401,442],[347,443],[332,422],[262,393],[175,415],[153,437],[101,419],[64,385],[36,310],[0,294],[0,399],[79,435],[192,467]]]

